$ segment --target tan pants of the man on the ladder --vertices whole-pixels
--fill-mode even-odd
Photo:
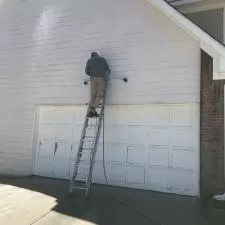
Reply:
[[[99,106],[104,94],[105,80],[103,77],[91,78],[91,96],[89,102],[89,112],[94,112]]]

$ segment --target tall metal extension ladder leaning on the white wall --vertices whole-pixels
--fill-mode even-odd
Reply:
[[[89,118],[87,116],[88,114],[87,110],[81,134],[80,144],[77,151],[77,158],[74,165],[74,171],[69,185],[69,194],[72,194],[74,189],[82,189],[85,191],[85,197],[86,198],[90,197],[95,155],[98,149],[98,142],[101,134],[102,121],[104,119],[107,87],[108,87],[108,76],[105,79],[102,103],[97,108],[97,110],[99,111],[98,112],[99,117]],[[89,159],[88,160],[83,159],[84,155],[88,156]],[[84,175],[85,171],[86,175]],[[81,174],[83,174],[82,177],[79,177]]]

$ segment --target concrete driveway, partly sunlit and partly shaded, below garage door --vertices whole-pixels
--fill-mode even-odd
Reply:
[[[95,185],[67,196],[68,182],[0,179],[0,225],[224,225],[225,211],[196,198]]]

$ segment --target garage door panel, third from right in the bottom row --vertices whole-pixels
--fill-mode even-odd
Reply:
[[[126,183],[144,185],[145,168],[141,166],[127,166]]]

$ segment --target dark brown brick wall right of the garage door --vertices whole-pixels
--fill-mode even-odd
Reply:
[[[224,188],[224,82],[213,81],[213,59],[201,52],[201,195]]]

